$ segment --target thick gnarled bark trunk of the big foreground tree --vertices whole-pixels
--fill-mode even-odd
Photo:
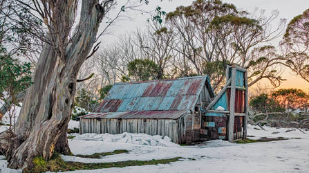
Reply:
[[[77,11],[77,0],[57,3],[61,6],[57,4],[56,8],[65,8],[64,12],[59,12],[60,19],[71,21]],[[7,151],[8,167],[30,168],[33,158],[41,156],[48,160],[54,151],[71,154],[66,134],[77,73],[95,43],[103,16],[104,7],[98,0],[83,0],[80,21],[71,44],[65,48],[65,55],[55,51],[55,46],[44,46],[33,76],[35,83],[26,93],[15,125],[14,143],[8,143],[8,131],[0,135],[0,147]],[[62,23],[57,26],[59,30],[65,26],[61,26]]]

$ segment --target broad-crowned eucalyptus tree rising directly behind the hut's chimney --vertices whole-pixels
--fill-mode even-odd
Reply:
[[[265,17],[263,11],[260,15],[250,14],[220,0],[196,0],[191,6],[180,6],[167,14],[169,30],[176,33],[176,44],[169,46],[189,60],[189,66],[197,75],[211,73],[205,71],[211,62],[221,64],[219,69],[223,71],[226,64],[238,64],[250,72],[250,86],[263,78],[278,86],[282,78],[274,65],[279,64],[279,55],[252,56],[258,55],[253,53],[258,50],[263,50],[260,55],[268,54],[263,47],[270,46],[268,42],[282,34],[285,20],[281,20],[277,28],[271,28],[278,15],[275,11],[270,17]],[[255,68],[255,71],[253,65],[265,68]],[[223,83],[225,73],[208,75],[214,76],[213,86],[217,89]]]

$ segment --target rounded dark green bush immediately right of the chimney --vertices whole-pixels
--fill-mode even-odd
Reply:
[[[266,93],[262,93],[261,95],[251,98],[250,107],[252,107],[253,111],[258,113],[284,111],[279,102],[271,98],[270,95]]]

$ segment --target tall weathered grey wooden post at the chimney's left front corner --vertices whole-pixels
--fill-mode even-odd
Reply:
[[[233,66],[234,67],[234,66]],[[235,116],[235,93],[236,93],[236,68],[232,68],[231,76],[231,95],[230,95],[230,118],[228,127],[228,139],[230,143],[234,141],[234,116]]]

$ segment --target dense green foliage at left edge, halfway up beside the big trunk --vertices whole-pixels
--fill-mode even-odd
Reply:
[[[15,97],[31,84],[31,65],[28,62],[18,62],[6,54],[6,49],[0,50],[0,98],[3,92],[9,97]],[[15,103],[16,104],[16,103]]]

